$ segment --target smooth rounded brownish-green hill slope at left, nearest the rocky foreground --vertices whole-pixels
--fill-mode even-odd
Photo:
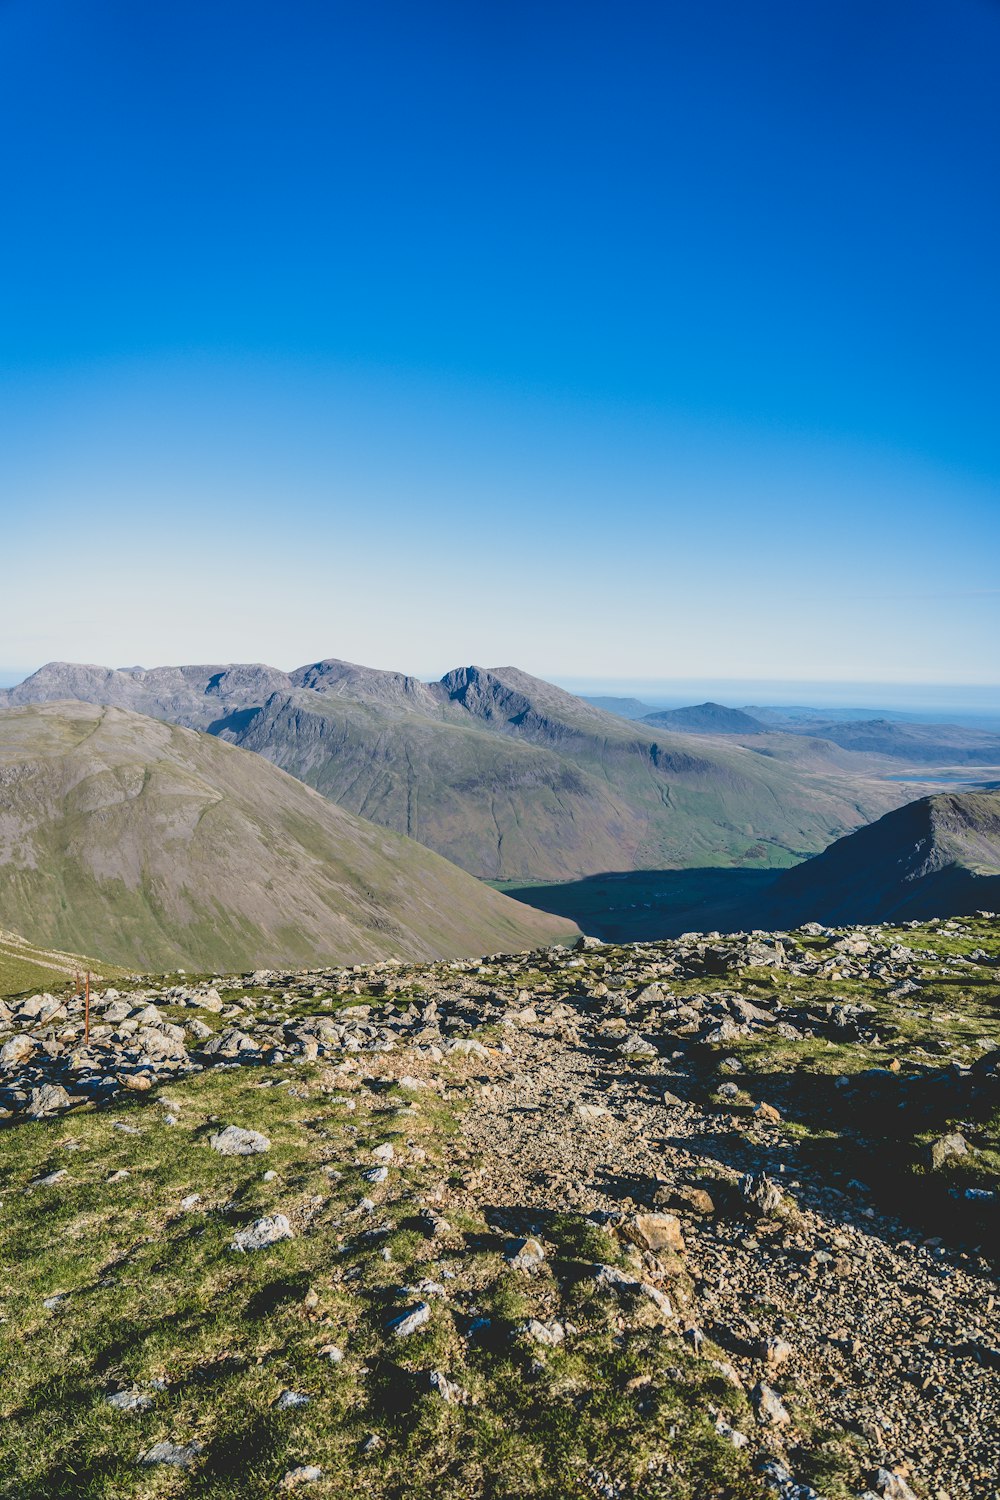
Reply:
[[[126,710],[0,714],[0,912],[129,966],[522,950],[573,933],[261,756]]]

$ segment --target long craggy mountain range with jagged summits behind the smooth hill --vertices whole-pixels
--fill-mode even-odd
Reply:
[[[748,748],[667,734],[516,668],[421,682],[337,660],[289,674],[51,663],[6,698],[67,693],[255,750],[487,879],[784,866],[906,795],[864,764],[858,774],[844,752],[810,754],[793,736],[759,736]]]

